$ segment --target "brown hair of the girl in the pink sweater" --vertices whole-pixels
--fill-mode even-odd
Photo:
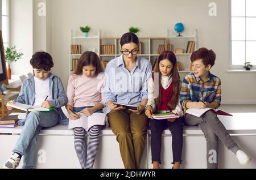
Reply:
[[[82,74],[82,68],[84,66],[90,66],[92,65],[93,67],[96,67],[96,72],[95,75],[100,74],[103,72],[102,66],[101,66],[101,61],[98,55],[94,52],[84,52],[79,58],[79,61],[77,63],[76,70],[74,74],[76,75],[81,75]]]

